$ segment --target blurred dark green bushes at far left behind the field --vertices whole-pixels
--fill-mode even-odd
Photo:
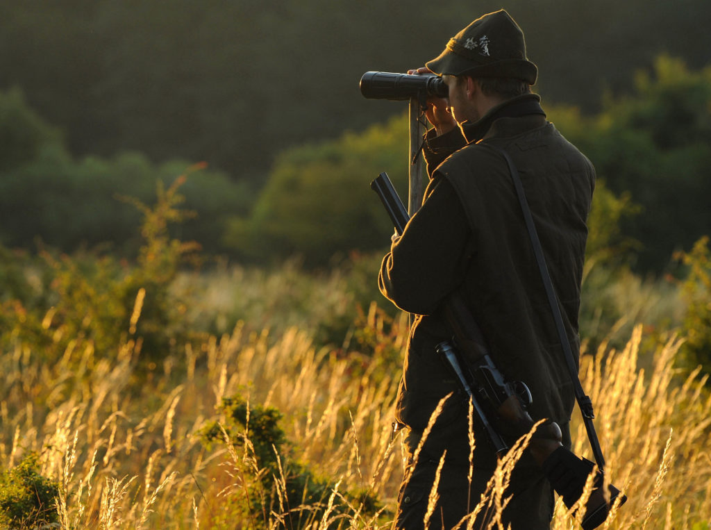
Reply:
[[[9,247],[28,248],[40,238],[65,251],[100,243],[135,251],[141,218],[117,195],[154,201],[156,182],[169,184],[186,168],[186,206],[199,220],[183,223],[181,238],[199,240],[208,251],[224,250],[226,220],[251,203],[246,184],[208,171],[204,163],[173,159],[156,165],[137,152],[76,161],[17,92],[0,92],[0,135],[11,149],[0,152],[0,242]]]

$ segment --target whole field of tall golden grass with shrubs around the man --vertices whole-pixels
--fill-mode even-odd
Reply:
[[[407,318],[375,294],[377,258],[160,277],[189,250],[164,235],[147,236],[140,274],[96,257],[18,273],[35,295],[2,301],[0,521],[388,528]],[[707,374],[678,363],[679,290],[602,268],[586,277],[581,376],[608,475],[629,497],[604,528],[711,528],[711,395]],[[592,459],[579,416],[573,434]],[[503,471],[483,501],[495,508]],[[18,500],[32,481],[51,502]],[[566,512],[559,499],[552,528],[575,527]]]

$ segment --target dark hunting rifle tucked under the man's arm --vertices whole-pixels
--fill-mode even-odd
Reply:
[[[390,178],[386,173],[381,173],[370,187],[383,201],[395,230],[402,235],[410,216]],[[454,372],[459,386],[469,396],[474,419],[483,428],[493,450],[497,454],[506,452],[508,445],[504,435],[519,438],[529,433],[535,425],[525,410],[533,401],[530,391],[523,381],[507,381],[496,368],[479,324],[459,293],[449,295],[442,302],[442,310],[454,339],[439,343],[437,354]],[[462,352],[466,352],[466,364],[462,362]],[[604,488],[602,465],[595,470],[593,462],[578,457],[562,445],[562,433],[557,423],[540,425],[528,449],[569,509],[582,496],[588,476],[595,471],[594,489],[582,507],[584,511],[580,510],[583,515],[579,522],[584,530],[592,530],[602,524],[616,499],[619,500],[618,506],[626,501],[626,496],[614,485],[607,484]]]

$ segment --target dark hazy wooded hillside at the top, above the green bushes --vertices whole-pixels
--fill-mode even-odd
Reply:
[[[404,71],[442,50],[483,0],[6,0],[0,88],[23,90],[75,156],[135,150],[207,161],[255,188],[304,141],[362,131],[397,112],[366,101],[367,70]],[[660,53],[699,68],[705,0],[510,0],[544,101],[599,111],[605,91]],[[693,14],[693,15],[692,15]],[[663,21],[663,25],[660,24]]]

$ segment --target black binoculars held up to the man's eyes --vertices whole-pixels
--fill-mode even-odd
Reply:
[[[360,78],[360,93],[370,100],[400,101],[412,97],[447,97],[449,89],[439,75],[366,72]]]

